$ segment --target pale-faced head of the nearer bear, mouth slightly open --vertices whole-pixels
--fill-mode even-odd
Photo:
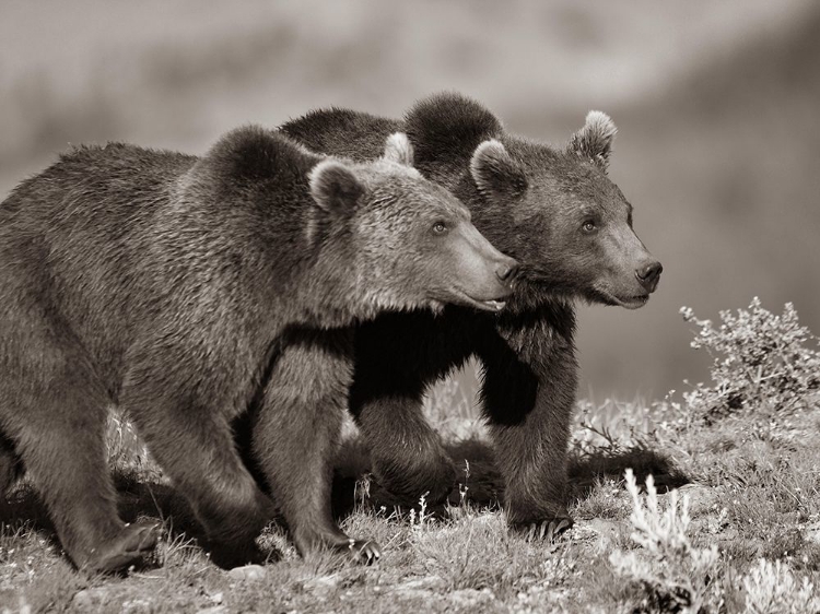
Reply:
[[[476,229],[448,190],[412,167],[406,134],[391,134],[373,162],[323,160],[309,173],[309,190],[308,241],[320,251],[345,246],[339,265],[348,267],[356,294],[374,311],[504,306],[516,262]]]

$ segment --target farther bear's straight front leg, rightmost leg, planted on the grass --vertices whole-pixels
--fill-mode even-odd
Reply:
[[[482,399],[507,520],[551,538],[572,526],[565,500],[576,387],[572,343],[540,319],[500,324],[501,334],[481,352]]]

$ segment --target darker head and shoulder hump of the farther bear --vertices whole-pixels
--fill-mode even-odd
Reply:
[[[422,173],[467,202],[476,226],[518,260],[516,305],[555,296],[646,304],[661,265],[607,176],[616,127],[605,114],[589,113],[569,144],[553,149],[506,133],[469,98],[443,94],[408,114],[407,131]]]

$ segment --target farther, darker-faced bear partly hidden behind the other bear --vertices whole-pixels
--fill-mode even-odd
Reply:
[[[481,401],[505,507],[515,527],[571,524],[564,501],[576,388],[573,299],[646,303],[661,267],[632,229],[632,205],[607,177],[616,128],[593,111],[564,149],[514,137],[478,103],[442,94],[403,120],[318,110],[281,131],[314,151],[371,160],[407,132],[415,165],[453,191],[476,226],[520,264],[507,309],[385,314],[356,329],[350,406],[371,449],[384,503],[442,500],[453,462],[421,413],[422,395],[470,356],[483,367]]]

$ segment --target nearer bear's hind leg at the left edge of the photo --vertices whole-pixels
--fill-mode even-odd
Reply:
[[[117,515],[105,449],[109,400],[84,352],[47,332],[37,341],[31,345],[39,352],[8,354],[15,362],[0,379],[2,485],[11,484],[22,462],[78,568],[126,569],[153,550],[157,531],[153,524],[126,526]]]

